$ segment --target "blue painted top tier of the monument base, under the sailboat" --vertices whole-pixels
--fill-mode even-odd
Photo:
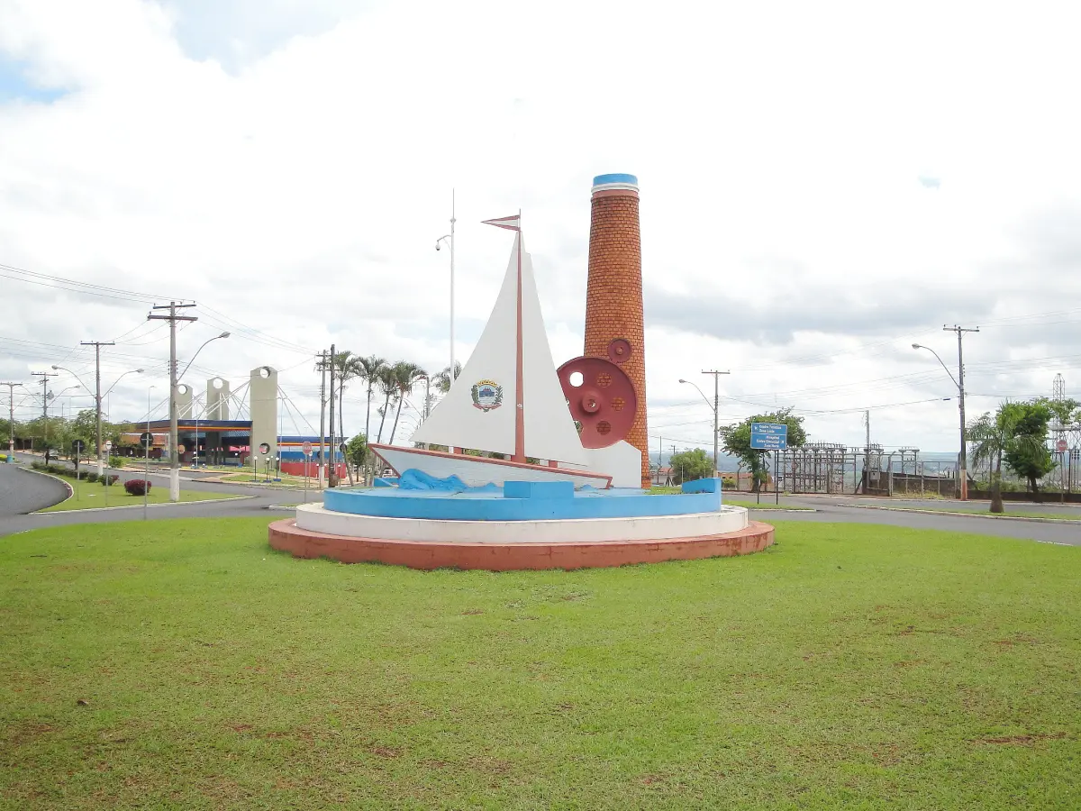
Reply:
[[[408,477],[403,475],[402,480]],[[323,492],[334,513],[379,518],[443,521],[545,521],[584,518],[648,518],[716,513],[721,508],[720,479],[686,482],[684,492],[650,495],[613,488],[574,490],[571,482],[508,481],[505,488],[406,489],[379,487]]]

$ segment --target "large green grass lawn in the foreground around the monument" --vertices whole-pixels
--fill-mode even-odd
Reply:
[[[1081,805],[1081,548],[782,522],[743,558],[425,573],[266,524],[0,540],[0,807]]]

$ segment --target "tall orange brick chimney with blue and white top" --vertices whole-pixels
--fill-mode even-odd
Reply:
[[[593,177],[592,198],[584,355],[610,358],[613,341],[624,338],[630,344],[630,357],[620,363],[620,369],[635,384],[638,412],[627,441],[642,452],[642,487],[649,488],[638,178],[632,174],[598,175]]]

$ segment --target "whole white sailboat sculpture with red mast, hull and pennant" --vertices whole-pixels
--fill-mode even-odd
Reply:
[[[414,442],[452,452],[370,444],[398,474],[417,469],[481,487],[505,481],[573,481],[608,488],[612,477],[586,470],[586,451],[551,360],[521,215],[485,220],[515,231],[507,274],[477,348],[451,390],[413,434]],[[491,458],[454,453],[471,449]],[[546,464],[531,464],[528,458]]]

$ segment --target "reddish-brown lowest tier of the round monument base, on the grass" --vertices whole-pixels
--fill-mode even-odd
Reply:
[[[773,544],[773,527],[758,521],[732,532],[697,537],[638,541],[545,541],[471,543],[408,541],[335,535],[306,530],[295,519],[269,527],[270,546],[297,558],[329,558],[343,563],[378,562],[410,569],[595,569],[627,563],[749,555]]]

